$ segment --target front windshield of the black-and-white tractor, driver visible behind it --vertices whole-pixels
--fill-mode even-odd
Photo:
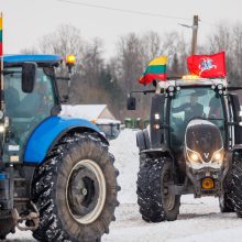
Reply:
[[[167,92],[170,102],[169,109],[169,143],[174,152],[182,152],[185,145],[185,132],[191,120],[200,119],[213,123],[226,138],[226,110],[223,110],[224,98],[219,94],[215,82],[208,85],[187,85],[183,80],[176,81],[175,91]],[[217,85],[223,85],[222,80],[217,80]],[[170,96],[172,95],[172,96]],[[168,110],[167,110],[168,111]]]

